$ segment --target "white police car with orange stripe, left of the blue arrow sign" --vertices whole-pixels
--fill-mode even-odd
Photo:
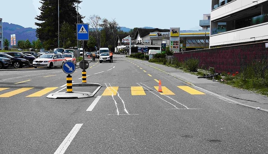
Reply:
[[[62,56],[62,54],[47,53],[35,59],[33,61],[33,66],[34,68],[37,68],[37,67],[52,68],[56,66],[62,67],[62,64],[65,61],[66,61],[65,57]]]

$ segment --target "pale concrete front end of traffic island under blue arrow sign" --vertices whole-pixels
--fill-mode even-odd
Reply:
[[[73,92],[73,93],[67,93],[67,92],[58,92],[58,93],[51,93],[47,95],[47,98],[51,99],[65,99],[65,98],[90,98],[94,97],[94,94],[90,92]]]

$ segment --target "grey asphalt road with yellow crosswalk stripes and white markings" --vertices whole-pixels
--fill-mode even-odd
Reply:
[[[265,111],[122,56],[90,67],[87,82],[103,87],[92,98],[68,100],[46,98],[65,87],[60,68],[0,72],[0,153],[268,153]],[[81,69],[72,74],[74,83],[81,77]]]

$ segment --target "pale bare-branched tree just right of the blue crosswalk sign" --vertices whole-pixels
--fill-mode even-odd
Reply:
[[[92,32],[95,35],[95,38],[97,38],[97,42],[100,40],[100,26],[101,26],[101,17],[99,15],[91,15],[89,18],[89,25],[92,27]],[[99,46],[99,45],[98,45]],[[100,46],[99,46],[100,48]]]

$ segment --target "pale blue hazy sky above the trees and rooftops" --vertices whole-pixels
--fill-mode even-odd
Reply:
[[[36,28],[34,19],[40,14],[39,0],[2,0],[0,18],[3,22]],[[211,0],[83,0],[79,12],[88,18],[98,14],[112,19],[122,27],[181,27],[181,30],[198,30],[203,14],[211,11]],[[88,22],[84,19],[84,22]]]

